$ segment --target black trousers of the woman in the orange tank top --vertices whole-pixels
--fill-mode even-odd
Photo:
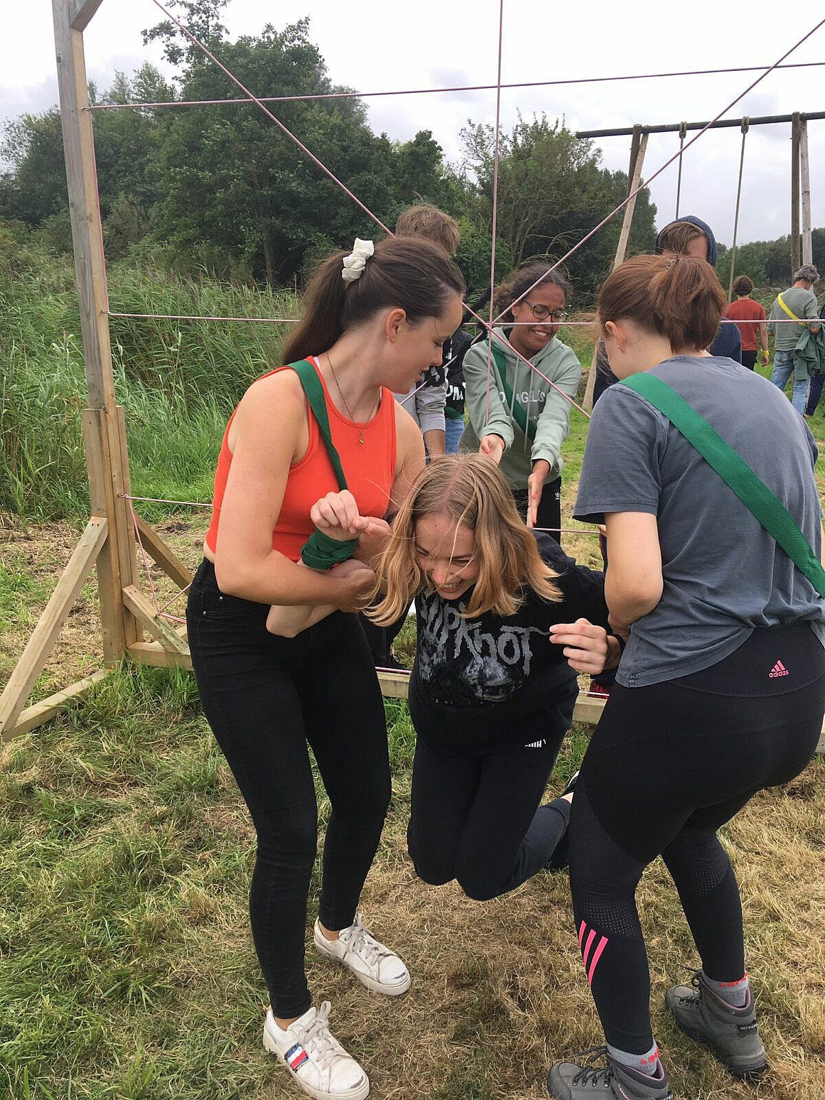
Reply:
[[[205,561],[186,619],[200,698],[257,833],[250,916],[276,1016],[311,1003],[304,972],[318,807],[307,743],[331,813],[318,915],[352,924],[389,804],[386,725],[355,615],[336,612],[296,638],[265,627],[267,607],[223,595]]]

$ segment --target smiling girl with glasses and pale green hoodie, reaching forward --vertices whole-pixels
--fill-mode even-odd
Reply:
[[[464,356],[468,426],[461,451],[491,458],[527,526],[547,530],[557,542],[561,444],[570,431],[564,394],[575,399],[582,374],[575,352],[557,337],[569,294],[566,279],[546,264],[518,268],[493,299],[504,323],[493,330],[492,349],[484,340]]]

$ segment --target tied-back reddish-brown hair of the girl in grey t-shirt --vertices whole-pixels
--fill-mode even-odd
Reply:
[[[674,352],[708,348],[727,297],[716,272],[693,256],[634,256],[609,275],[598,292],[598,321],[623,318],[667,337]]]

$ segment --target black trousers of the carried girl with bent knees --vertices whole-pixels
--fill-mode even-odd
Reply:
[[[420,736],[413,763],[407,846],[431,886],[457,879],[475,901],[515,890],[540,871],[566,832],[569,803],[541,806],[561,732],[542,710],[513,748],[448,755]]]

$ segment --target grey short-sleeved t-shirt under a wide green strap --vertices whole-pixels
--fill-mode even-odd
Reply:
[[[729,359],[676,355],[650,373],[738,451],[818,554],[816,443],[784,395]],[[657,516],[662,551],[662,597],[632,626],[620,684],[710,668],[757,627],[807,620],[825,645],[825,602],[811,582],[667,417],[623,385],[593,410],[574,515],[602,522],[606,512]]]

